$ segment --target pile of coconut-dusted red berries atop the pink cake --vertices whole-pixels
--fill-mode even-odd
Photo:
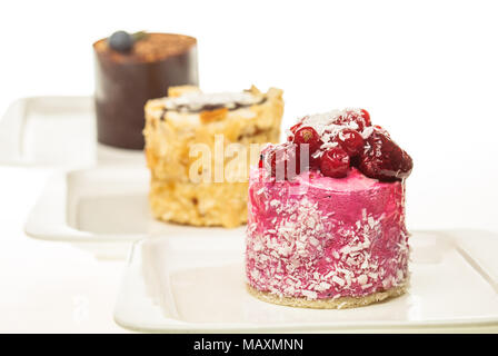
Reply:
[[[277,179],[293,178],[302,165],[302,169],[320,170],[326,177],[343,178],[356,167],[367,177],[395,181],[407,178],[414,167],[411,157],[389,132],[371,125],[365,109],[302,117],[290,128],[287,142],[263,154],[263,166]]]

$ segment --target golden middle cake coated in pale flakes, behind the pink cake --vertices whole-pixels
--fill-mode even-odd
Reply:
[[[276,88],[266,93],[255,87],[242,92],[202,93],[197,87],[172,87],[167,98],[149,100],[143,135],[153,216],[195,226],[246,224],[250,159],[240,160],[245,167],[230,165],[230,158],[216,161],[216,137],[222,135],[223,151],[237,142],[249,152],[249,144],[279,140],[282,115],[282,90]],[[195,144],[209,147],[210,167],[198,167],[199,156],[190,152]],[[256,160],[258,155],[259,150]],[[191,168],[199,172],[210,169],[211,178],[222,169],[225,179],[193,181]]]

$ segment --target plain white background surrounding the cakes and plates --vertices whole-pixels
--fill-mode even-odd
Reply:
[[[191,34],[205,90],[280,87],[286,127],[368,109],[414,157],[409,228],[498,230],[497,13],[494,1],[2,0],[0,111],[91,95],[91,43],[114,30]],[[0,169],[0,330],[116,330],[121,264],[22,235],[48,175]],[[89,324],[72,316],[80,295]]]

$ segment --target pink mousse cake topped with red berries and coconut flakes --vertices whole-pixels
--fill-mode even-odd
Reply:
[[[404,294],[410,156],[363,109],[306,116],[288,134],[250,171],[249,293],[308,308]]]

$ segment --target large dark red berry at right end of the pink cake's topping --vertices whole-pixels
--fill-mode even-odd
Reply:
[[[411,157],[384,130],[375,130],[367,139],[359,170],[370,178],[392,181],[407,178],[414,168]]]

